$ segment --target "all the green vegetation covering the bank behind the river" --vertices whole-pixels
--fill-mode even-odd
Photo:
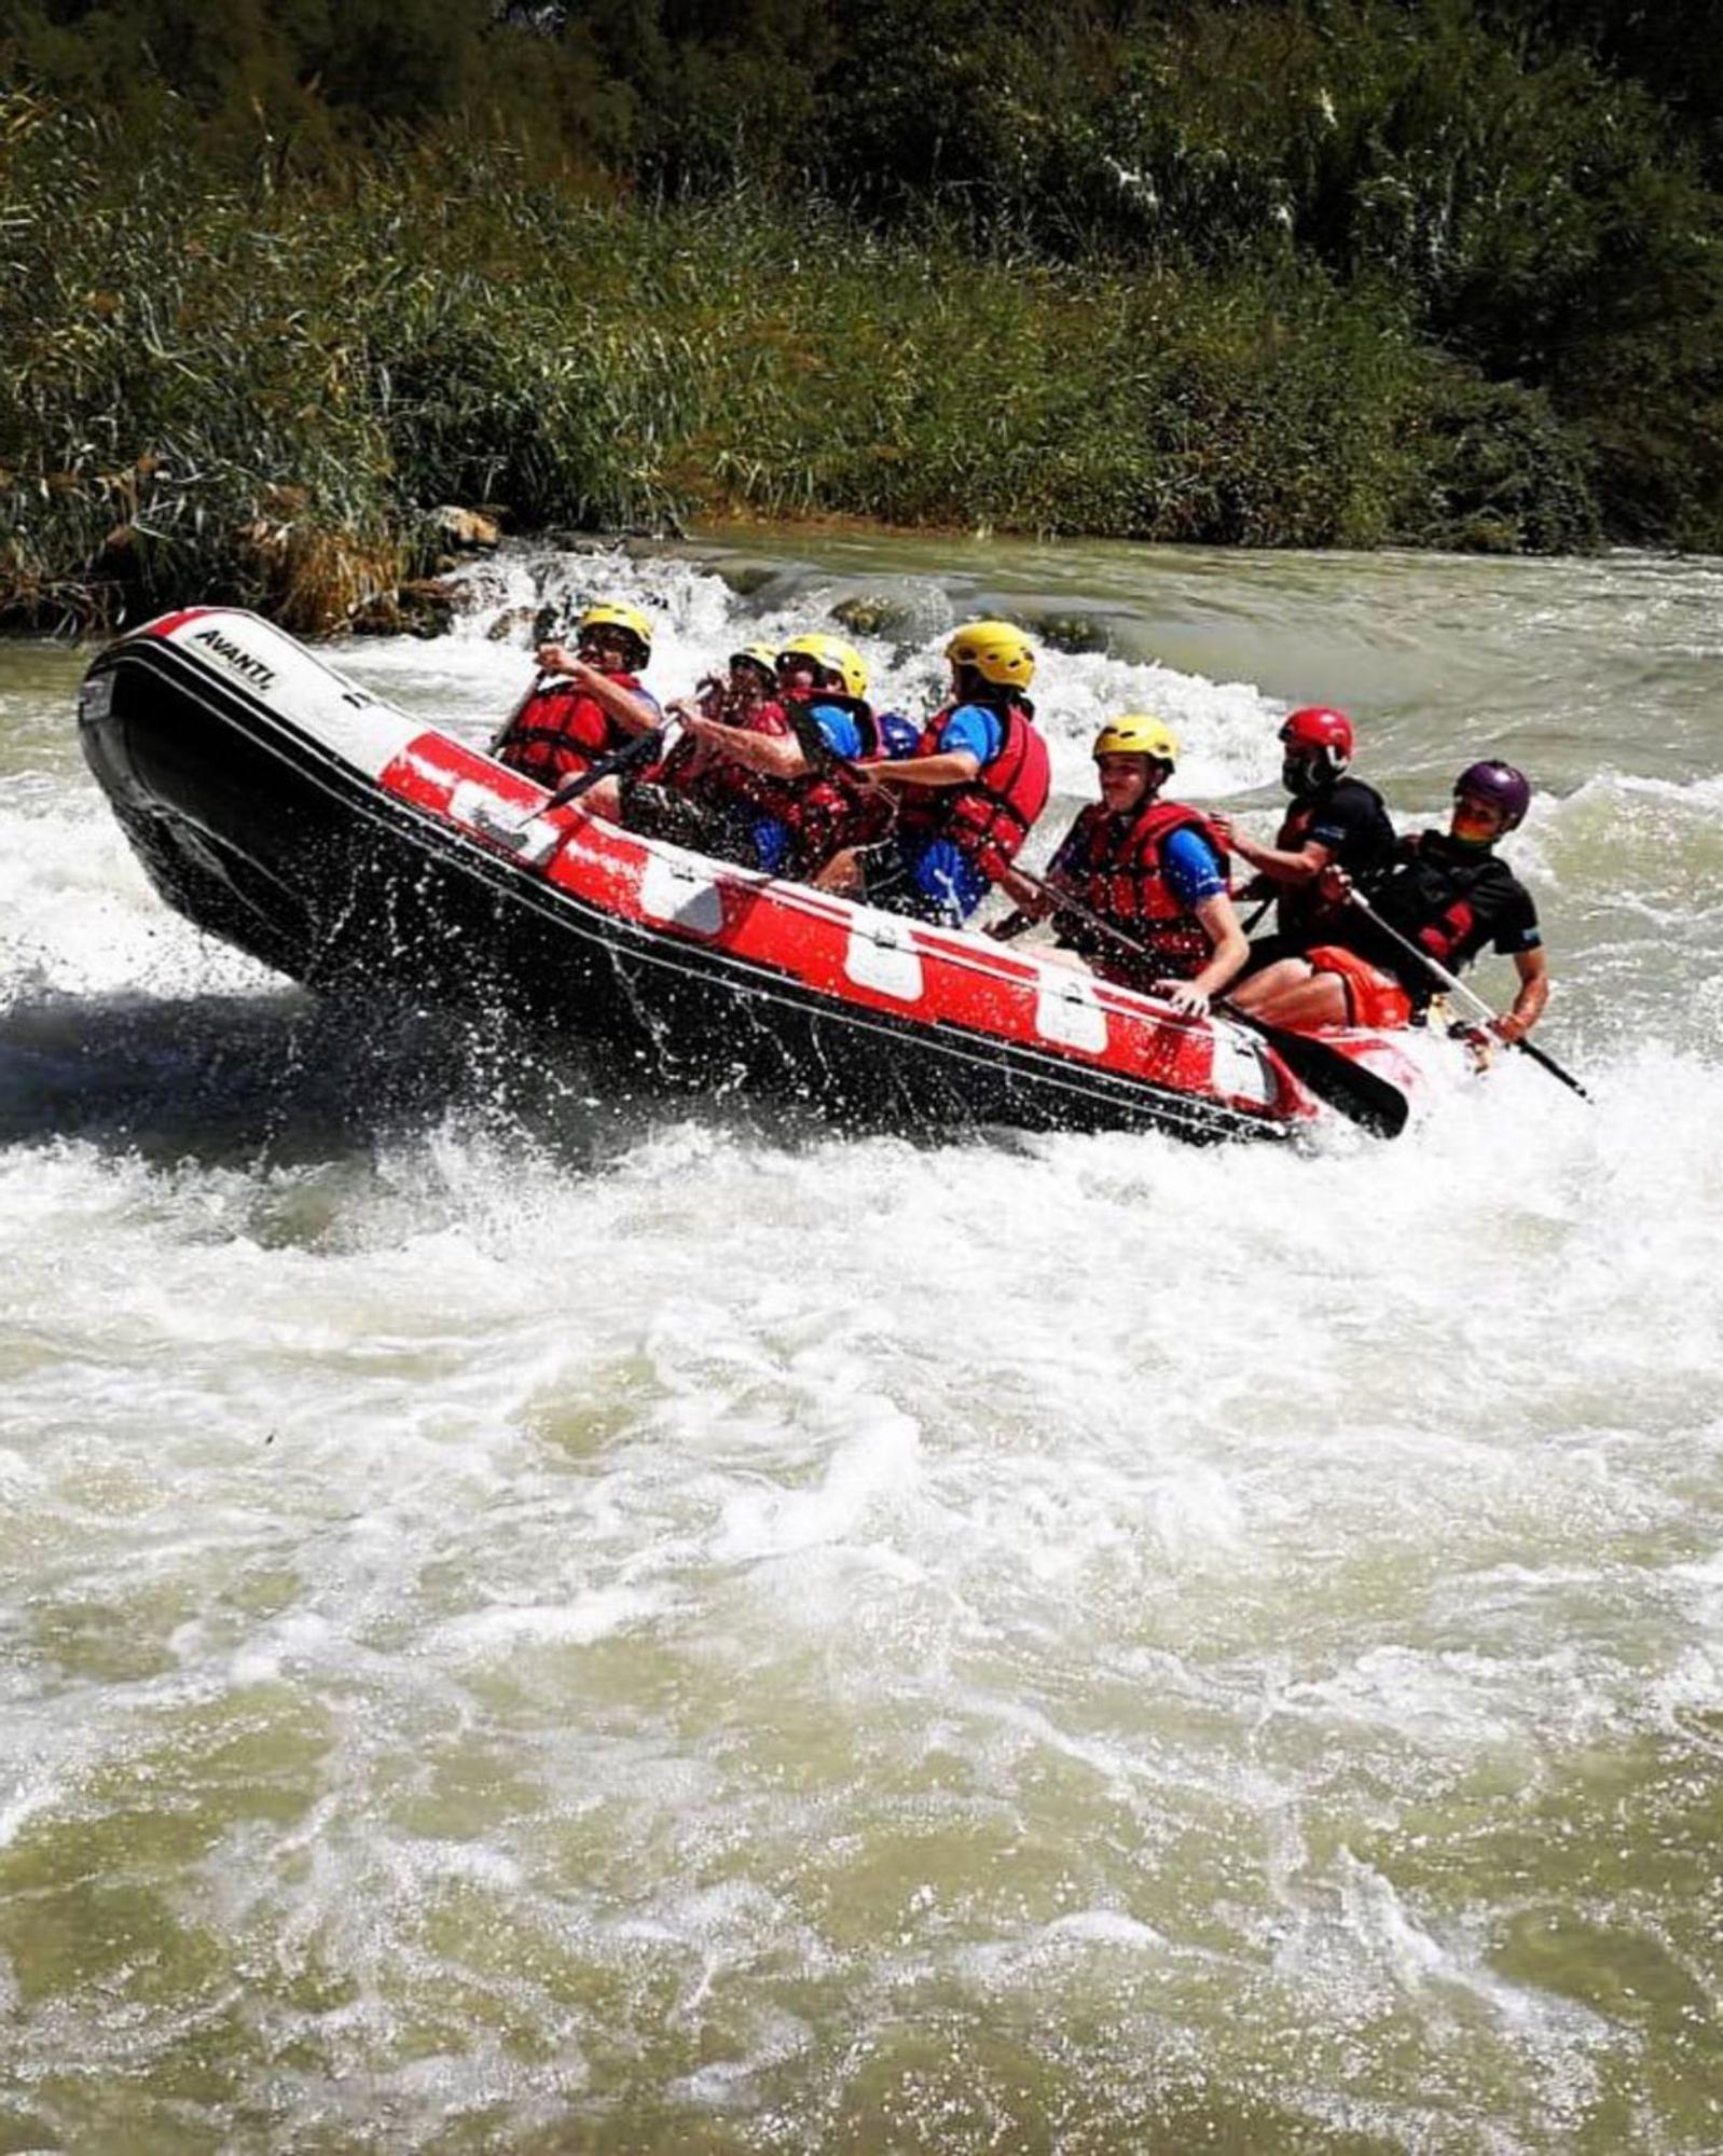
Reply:
[[[688,13],[6,0],[0,614],[328,627],[444,502],[1723,543],[1680,4]]]

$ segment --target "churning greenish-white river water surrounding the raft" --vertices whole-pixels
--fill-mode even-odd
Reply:
[[[477,737],[593,591],[1033,619],[1063,808],[1512,755],[1596,1106],[589,1095],[170,916],[0,647],[0,2152],[1721,2145],[1723,567],[720,535],[336,658]]]

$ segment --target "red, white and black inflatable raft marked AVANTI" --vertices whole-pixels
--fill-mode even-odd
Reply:
[[[1287,1138],[1322,1108],[1298,1041],[640,839],[578,802],[546,813],[541,787],[246,612],[188,608],[110,645],[80,733],[162,897],[317,990],[403,987],[666,1080],[912,1130]],[[1417,1082],[1393,1039],[1309,1054],[1356,1065],[1367,1100]]]

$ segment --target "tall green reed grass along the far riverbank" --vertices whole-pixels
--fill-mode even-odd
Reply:
[[[513,530],[854,515],[1251,545],[1574,548],[1583,459],[1320,272],[1130,278],[649,209],[457,136],[282,181],[0,99],[0,619],[185,597],[321,632]]]

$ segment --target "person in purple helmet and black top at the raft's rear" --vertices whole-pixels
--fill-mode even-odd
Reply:
[[[1453,780],[1449,828],[1400,839],[1369,877],[1369,912],[1348,908],[1331,942],[1251,975],[1233,1003],[1268,1024],[1305,1033],[1322,1026],[1389,1031],[1410,1024],[1441,987],[1408,944],[1449,972],[1460,972],[1488,944],[1512,957],[1520,977],[1512,1007],[1490,1031],[1510,1044],[1525,1039],[1548,1003],[1548,962],[1531,893],[1494,847],[1520,826],[1529,806],[1531,785],[1512,763],[1469,765]],[[1341,899],[1348,888],[1350,880],[1331,871],[1333,895]]]

